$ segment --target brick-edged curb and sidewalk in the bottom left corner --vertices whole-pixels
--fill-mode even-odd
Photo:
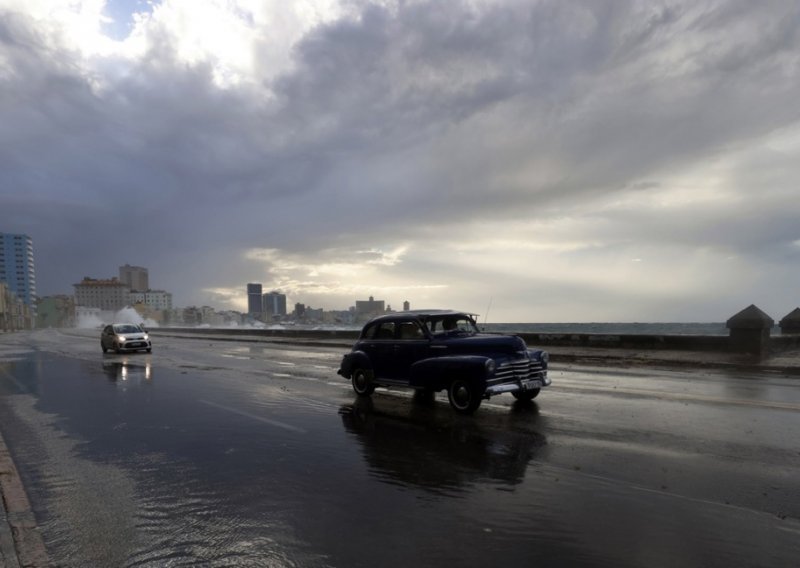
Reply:
[[[52,566],[36,517],[0,434],[0,568]]]

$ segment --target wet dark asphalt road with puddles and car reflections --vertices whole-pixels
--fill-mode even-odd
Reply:
[[[0,336],[0,431],[59,566],[800,558],[796,378],[556,367],[462,417],[356,400],[341,349],[98,338]]]

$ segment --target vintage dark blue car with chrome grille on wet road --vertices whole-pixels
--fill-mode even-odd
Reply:
[[[415,310],[371,319],[339,374],[359,396],[376,386],[410,387],[423,394],[446,390],[450,405],[471,414],[483,399],[511,393],[532,400],[547,377],[548,354],[521,337],[481,333],[472,314]]]

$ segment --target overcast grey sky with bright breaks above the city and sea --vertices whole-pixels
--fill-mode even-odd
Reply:
[[[800,4],[0,0],[0,231],[39,295],[779,320]]]

